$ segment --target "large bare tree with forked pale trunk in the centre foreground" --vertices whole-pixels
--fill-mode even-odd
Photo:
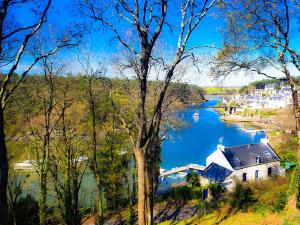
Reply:
[[[96,1],[80,1],[81,13],[98,21],[112,31],[114,37],[127,51],[127,65],[138,81],[138,106],[136,112],[135,126],[131,127],[126,118],[121,118],[130,136],[134,155],[138,167],[138,224],[152,223],[147,206],[147,194],[145,184],[147,183],[146,155],[149,144],[153,138],[155,129],[160,124],[162,107],[166,91],[171,82],[174,70],[184,59],[191,56],[187,42],[204,18],[207,11],[214,6],[215,1],[182,0],[173,8],[178,10],[181,19],[178,29],[176,50],[172,60],[165,66],[165,77],[155,107],[150,114],[146,113],[148,76],[150,65],[155,59],[153,49],[163,29],[169,25],[166,16],[171,13],[167,0],[159,1],[110,1],[108,4],[99,4]],[[122,32],[121,26],[126,27]],[[132,34],[130,34],[132,33]],[[131,35],[131,36],[128,36]],[[166,58],[163,59],[167,62]]]

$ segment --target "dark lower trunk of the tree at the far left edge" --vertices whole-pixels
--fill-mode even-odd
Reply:
[[[8,224],[8,160],[4,133],[4,114],[0,106],[0,225]]]

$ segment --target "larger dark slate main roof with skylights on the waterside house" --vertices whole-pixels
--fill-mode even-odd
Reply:
[[[257,157],[260,164],[280,161],[271,146],[264,143],[228,147],[224,149],[223,154],[233,169],[256,165]]]

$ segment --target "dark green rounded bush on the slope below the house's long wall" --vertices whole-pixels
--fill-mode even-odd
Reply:
[[[231,199],[231,206],[236,209],[247,211],[254,202],[252,189],[238,183]]]

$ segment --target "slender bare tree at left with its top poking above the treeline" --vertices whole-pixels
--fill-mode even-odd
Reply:
[[[64,69],[64,65],[57,63],[49,56],[42,60],[44,83],[37,84],[37,95],[42,105],[42,119],[32,118],[31,133],[35,139],[35,157],[37,174],[39,176],[39,216],[40,224],[46,224],[46,200],[48,193],[48,175],[50,168],[51,144],[53,132],[60,117],[55,116],[57,110],[57,75]],[[53,145],[53,144],[52,144]]]

